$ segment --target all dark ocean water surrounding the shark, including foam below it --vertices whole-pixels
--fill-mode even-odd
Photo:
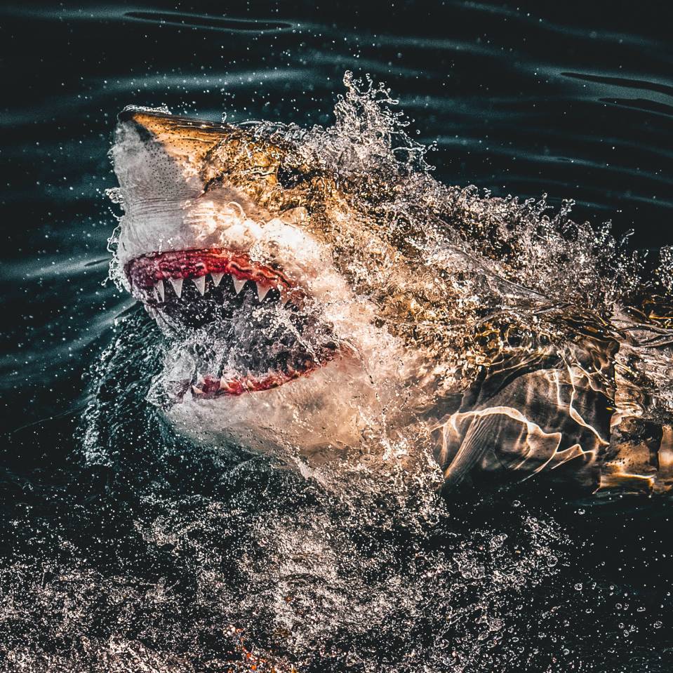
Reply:
[[[354,513],[173,437],[145,401],[152,349],[117,362],[154,328],[105,282],[120,109],[329,124],[347,69],[392,88],[443,182],[574,199],[576,220],[633,229],[636,248],[673,244],[665,3],[0,17],[1,669],[673,669],[668,500],[528,488],[420,528],[371,498]]]

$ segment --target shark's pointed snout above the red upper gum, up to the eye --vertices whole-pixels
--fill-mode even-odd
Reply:
[[[331,251],[308,233],[306,208],[269,206],[281,189],[276,145],[227,124],[127,108],[113,156],[124,194],[123,267],[147,255],[221,250],[281,269],[315,294],[340,284]]]

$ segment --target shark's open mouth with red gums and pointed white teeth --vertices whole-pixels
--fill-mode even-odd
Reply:
[[[128,262],[132,292],[195,365],[180,399],[258,392],[307,375],[338,352],[319,307],[279,269],[224,248],[149,253]]]

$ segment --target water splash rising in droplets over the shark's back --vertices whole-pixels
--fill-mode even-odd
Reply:
[[[333,126],[304,130],[261,122],[257,132],[296,143],[298,163],[318,163],[338,180],[356,182],[361,211],[373,218],[393,228],[411,220],[408,229],[427,235],[428,255],[437,246],[456,246],[524,288],[598,312],[651,290],[642,278],[643,255],[627,245],[630,234],[618,240],[610,222],[598,228],[573,222],[570,200],[553,213],[546,194],[520,201],[474,186],[441,185],[426,160],[432,145],[408,135],[410,121],[396,109],[389,88],[368,76],[355,79],[352,72],[346,72],[344,84],[347,93],[338,97]],[[428,215],[439,216],[439,230]],[[673,268],[669,257],[662,251],[662,279]]]

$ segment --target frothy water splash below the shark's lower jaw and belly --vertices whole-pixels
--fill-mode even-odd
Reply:
[[[539,627],[519,609],[567,563],[562,528],[519,503],[506,522],[475,527],[427,488],[381,474],[352,472],[337,491],[232,447],[192,446],[142,401],[161,366],[156,328],[139,312],[119,327],[81,428],[91,497],[72,531],[48,531],[50,561],[28,543],[0,573],[10,666],[457,672],[521,661],[517,643]],[[124,514],[106,518],[119,499]],[[91,526],[109,547],[79,540]]]

